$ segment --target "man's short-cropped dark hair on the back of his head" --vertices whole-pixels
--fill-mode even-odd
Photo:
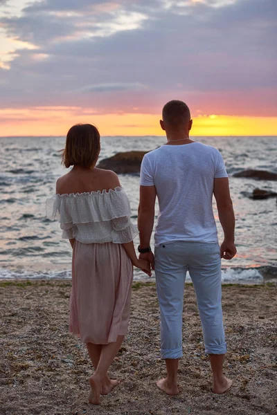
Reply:
[[[190,109],[183,101],[172,100],[163,107],[163,122],[166,125],[188,124]]]

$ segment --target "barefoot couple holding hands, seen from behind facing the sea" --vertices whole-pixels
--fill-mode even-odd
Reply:
[[[168,142],[150,151],[141,165],[139,232],[130,221],[127,194],[114,172],[97,169],[100,135],[90,124],[71,127],[62,162],[71,171],[57,180],[46,202],[48,218],[59,219],[62,237],[73,248],[70,331],[80,335],[95,369],[89,401],[100,403],[118,380],[108,369],[127,334],[133,266],[151,275],[155,268],[161,313],[161,356],[167,377],[157,386],[179,393],[182,311],[189,270],[202,320],[205,351],[213,371],[213,392],[232,381],[222,372],[226,342],[221,306],[221,258],[232,259],[235,218],[224,161],[217,149],[189,138],[193,121],[184,102],[163,107],[161,128]],[[224,230],[221,247],[213,216],[213,194]],[[150,248],[154,205],[159,200],[155,257]],[[139,258],[133,239],[140,234]]]

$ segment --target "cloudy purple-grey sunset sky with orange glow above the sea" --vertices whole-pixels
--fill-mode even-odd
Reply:
[[[276,0],[0,0],[0,136],[277,135]]]

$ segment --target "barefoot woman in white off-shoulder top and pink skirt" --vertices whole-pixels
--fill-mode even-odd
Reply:
[[[118,176],[96,168],[100,135],[91,124],[71,127],[62,163],[71,171],[57,180],[46,201],[48,219],[59,219],[62,237],[73,248],[69,329],[80,335],[95,369],[89,402],[100,403],[118,380],[107,374],[127,334],[133,265],[151,275],[148,261],[137,259],[130,206]]]

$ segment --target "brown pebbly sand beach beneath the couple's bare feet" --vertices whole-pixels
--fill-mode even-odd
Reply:
[[[211,392],[193,286],[186,286],[181,392],[172,398],[155,386],[165,365],[154,282],[134,283],[129,335],[110,371],[122,382],[98,407],[87,400],[87,351],[68,332],[70,289],[69,281],[0,282],[1,415],[277,414],[276,286],[223,286],[224,366],[234,384],[221,396]]]

